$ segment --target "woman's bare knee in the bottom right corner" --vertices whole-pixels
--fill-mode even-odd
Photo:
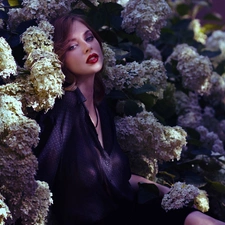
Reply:
[[[184,225],[225,225],[225,222],[219,221],[199,211],[195,211],[186,217]]]

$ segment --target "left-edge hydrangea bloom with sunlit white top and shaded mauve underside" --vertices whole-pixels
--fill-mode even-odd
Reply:
[[[24,116],[22,103],[12,96],[0,96],[0,142],[18,154],[30,154],[37,146],[40,128],[38,124]]]

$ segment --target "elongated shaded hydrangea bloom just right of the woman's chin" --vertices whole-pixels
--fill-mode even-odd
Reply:
[[[150,59],[141,63],[135,61],[126,65],[108,66],[104,83],[108,92],[112,89],[139,88],[148,83],[155,88],[155,91],[149,93],[162,98],[167,76],[162,61]]]

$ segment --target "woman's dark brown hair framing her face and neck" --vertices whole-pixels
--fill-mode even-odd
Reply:
[[[53,26],[55,28],[53,37],[54,51],[59,56],[59,60],[62,62],[62,71],[66,76],[64,89],[67,91],[73,91],[76,89],[75,76],[67,71],[67,69],[64,67],[68,36],[71,30],[71,26],[75,21],[81,22],[93,33],[102,49],[102,41],[100,36],[88,24],[87,19],[83,15],[70,13],[67,15],[63,15],[53,21]],[[99,103],[105,94],[105,88],[100,73],[101,71],[96,73],[94,82],[94,100],[96,103]]]

